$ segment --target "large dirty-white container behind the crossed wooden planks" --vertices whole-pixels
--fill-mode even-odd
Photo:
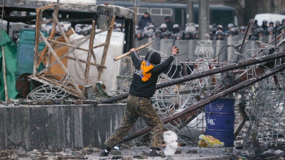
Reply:
[[[99,29],[96,30],[96,32],[100,31]],[[69,41],[73,41],[76,39],[79,39],[83,36],[78,34],[73,34],[70,36]],[[94,39],[94,45],[97,46],[99,44],[105,43],[107,37],[107,31],[97,34]],[[78,41],[76,43],[73,43],[72,45],[77,45],[82,41]],[[120,32],[112,32],[111,41],[109,45],[109,49],[107,52],[107,58],[105,62],[105,66],[107,69],[103,69],[103,73],[101,75],[100,81],[102,81],[102,84],[106,86],[106,89],[104,89],[105,92],[107,92],[107,95],[112,96],[113,94],[109,92],[109,90],[117,90],[117,75],[119,75],[120,66],[121,66],[121,60],[114,61],[113,59],[123,52],[123,46],[124,46],[124,33]],[[89,48],[89,40],[86,41],[84,44],[80,46],[80,48],[88,49]],[[96,49],[93,49],[95,53],[95,57],[97,60],[97,63],[101,63],[102,54],[103,54],[104,46],[99,47]],[[81,60],[87,61],[87,52],[76,49],[74,51],[75,55]],[[73,54],[69,54],[70,57],[74,57]],[[91,57],[91,62],[94,63],[93,57]],[[86,63],[81,63],[84,72]],[[67,60],[67,70],[68,72],[73,75],[73,79],[78,85],[85,86],[85,77],[84,72],[80,69],[79,64],[75,60],[68,59]],[[97,82],[97,76],[98,71],[96,66],[90,65],[90,71],[89,71],[89,81],[88,84],[96,84]]]

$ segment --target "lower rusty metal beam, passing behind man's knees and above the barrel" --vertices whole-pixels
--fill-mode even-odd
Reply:
[[[222,97],[225,97],[225,96],[230,95],[230,94],[232,94],[234,92],[237,92],[240,89],[243,89],[243,88],[245,88],[247,86],[250,86],[250,85],[252,85],[252,84],[254,84],[254,83],[258,82],[258,81],[261,81],[262,79],[265,79],[265,78],[267,78],[269,76],[272,76],[272,75],[274,75],[274,74],[276,74],[276,73],[278,73],[278,72],[280,72],[280,71],[282,71],[284,69],[285,69],[285,64],[281,64],[281,65],[279,65],[279,66],[277,66],[275,68],[272,68],[269,71],[266,71],[265,73],[262,73],[262,74],[254,77],[252,79],[248,79],[247,81],[243,81],[240,84],[235,85],[234,87],[226,89],[223,92],[220,92],[220,93],[218,93],[216,95],[213,95],[213,96],[211,96],[211,97],[209,97],[209,98],[207,98],[205,100],[202,100],[202,101],[200,101],[198,103],[195,103],[194,105],[191,105],[188,108],[185,108],[181,112],[174,113],[171,116],[168,116],[168,117],[162,119],[162,122],[163,122],[163,124],[167,124],[167,123],[169,123],[169,122],[171,122],[171,121],[173,121],[175,119],[180,118],[181,116],[185,116],[186,114],[188,114],[191,111],[195,111],[195,110],[197,110],[199,108],[202,108],[205,105],[208,105],[208,104],[210,104],[210,103],[212,103],[212,102],[214,102],[214,101],[216,101],[218,99],[221,99]],[[131,135],[128,135],[123,140],[121,140],[120,143],[124,143],[124,142],[127,142],[129,140],[132,140],[132,139],[134,139],[136,137],[139,137],[139,136],[141,136],[141,135],[143,135],[143,134],[145,134],[145,133],[147,133],[149,131],[151,131],[151,127],[144,127],[142,129],[137,130],[136,132],[132,133]]]

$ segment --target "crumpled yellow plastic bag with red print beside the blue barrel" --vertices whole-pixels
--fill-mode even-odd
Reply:
[[[200,147],[221,148],[225,145],[224,142],[220,142],[218,139],[210,135],[200,135],[199,139],[200,141],[198,145]]]

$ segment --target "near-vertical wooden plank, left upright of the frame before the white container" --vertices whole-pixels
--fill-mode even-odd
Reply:
[[[87,63],[86,63],[86,67],[85,67],[85,72],[84,72],[84,77],[85,77],[85,84],[84,86],[86,86],[88,84],[88,77],[89,77],[89,70],[90,70],[90,63],[91,63],[91,52],[92,52],[92,47],[94,44],[94,38],[95,38],[95,21],[92,21],[92,28],[91,28],[91,34],[90,34],[90,40],[89,40],[89,51],[87,54]],[[96,64],[96,62],[95,62]],[[97,70],[99,70],[98,66]]]

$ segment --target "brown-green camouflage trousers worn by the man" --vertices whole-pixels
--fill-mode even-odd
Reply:
[[[151,147],[160,149],[163,123],[153,108],[151,100],[133,95],[129,95],[127,99],[120,127],[106,140],[105,144],[110,148],[114,148],[126,136],[139,117],[151,127]]]

